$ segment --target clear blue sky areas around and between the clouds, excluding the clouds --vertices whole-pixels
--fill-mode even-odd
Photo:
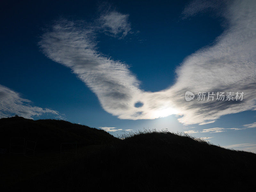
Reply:
[[[242,112],[221,117],[213,124],[184,126],[172,115],[155,120],[121,120],[100,106],[95,94],[71,70],[46,58],[38,41],[44,29],[60,17],[91,21],[101,2],[20,1],[1,5],[0,84],[21,94],[42,108],[65,114],[68,121],[91,127],[118,129],[156,128],[183,132],[213,127],[234,128],[253,123],[256,113]],[[223,32],[222,21],[209,13],[181,20],[187,1],[109,1],[119,12],[129,14],[133,31],[139,33],[117,39],[98,37],[98,50],[130,65],[145,91],[160,91],[175,83],[175,69],[191,53],[213,43]],[[40,116],[38,118],[49,118]],[[197,128],[194,128],[197,130]],[[122,133],[111,132],[112,134]],[[222,146],[254,143],[255,129],[222,133],[195,133],[213,137]]]

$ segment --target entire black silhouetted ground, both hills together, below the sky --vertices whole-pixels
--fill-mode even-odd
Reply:
[[[36,142],[35,157],[9,154],[10,138]],[[61,120],[0,119],[3,191],[255,191],[256,154],[170,132],[121,140]],[[76,153],[60,154],[60,143]]]

